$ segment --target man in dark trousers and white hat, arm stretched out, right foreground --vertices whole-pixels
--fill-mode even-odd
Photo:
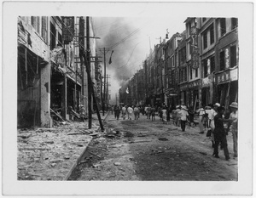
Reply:
[[[223,146],[224,149],[224,156],[226,161],[228,161],[230,159],[230,153],[228,150],[228,143],[227,143],[227,133],[224,129],[224,122],[230,122],[230,119],[224,119],[223,118],[223,114],[224,114],[224,107],[223,106],[219,106],[218,107],[218,114],[216,116],[214,116],[214,125],[215,125],[215,129],[214,129],[214,140],[215,140],[215,144],[214,144],[214,151],[212,156],[219,158],[218,156],[218,144],[221,144]]]

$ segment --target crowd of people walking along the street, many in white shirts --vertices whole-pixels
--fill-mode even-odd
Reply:
[[[188,109],[185,105],[177,105],[176,109],[168,108],[166,105],[146,105],[145,107],[139,105],[115,105],[113,111],[114,117],[117,120],[119,120],[120,114],[123,120],[126,119],[126,116],[128,120],[131,120],[132,115],[134,115],[135,120],[138,120],[140,113],[142,113],[147,116],[147,119],[155,121],[155,115],[157,114],[163,124],[167,124],[167,122],[170,121],[172,114],[173,123],[177,127],[180,126],[183,132],[185,131],[186,124],[188,123],[188,125],[191,126],[192,122],[194,122],[195,114],[198,114],[199,133],[204,133],[204,129],[207,129],[211,133],[210,138],[212,140],[213,148],[212,156],[219,158],[218,146],[220,145],[220,148],[224,150],[225,159],[230,159],[226,139],[227,134],[230,132],[233,135],[234,157],[237,157],[238,105],[236,102],[233,102],[230,105],[231,113],[227,113],[229,110],[225,110],[225,108],[218,103],[208,105],[205,108],[203,108],[202,105],[199,105],[198,110]],[[229,115],[227,116],[227,114]],[[227,123],[227,127],[224,127],[224,123]]]

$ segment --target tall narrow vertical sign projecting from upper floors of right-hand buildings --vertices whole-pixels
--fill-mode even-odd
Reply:
[[[191,43],[191,66],[193,69],[199,67],[199,48],[198,48],[198,30],[196,26],[191,27],[190,32],[190,43]]]

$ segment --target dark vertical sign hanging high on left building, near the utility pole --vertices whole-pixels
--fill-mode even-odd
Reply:
[[[74,17],[73,16],[61,16],[63,21],[62,25],[62,40],[64,44],[68,44],[73,40],[74,35]]]

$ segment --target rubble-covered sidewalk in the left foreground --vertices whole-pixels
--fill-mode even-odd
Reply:
[[[96,121],[91,129],[88,122],[18,129],[18,180],[67,180],[91,139],[104,135],[113,138],[114,134],[109,130],[102,133]]]

